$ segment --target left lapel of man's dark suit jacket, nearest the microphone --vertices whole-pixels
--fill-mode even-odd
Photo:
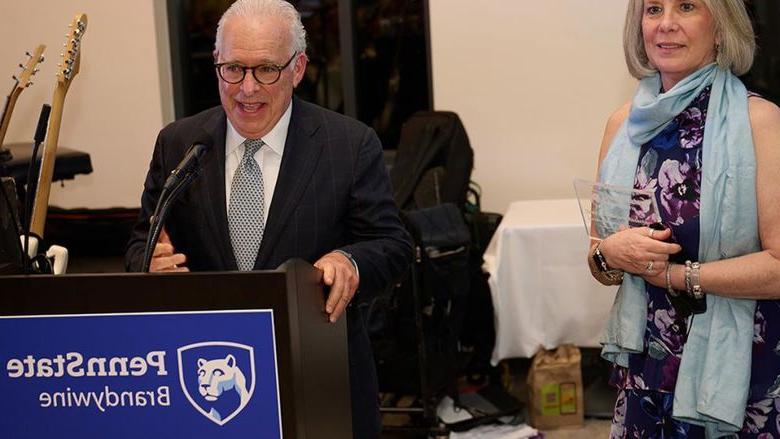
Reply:
[[[219,266],[214,267],[215,269],[237,270],[238,265],[230,243],[225,207],[225,132],[227,130],[225,112],[221,109],[216,112],[214,117],[203,124],[203,129],[214,140],[214,147],[204,156],[200,177],[205,188],[203,206],[209,230],[214,235],[211,242],[204,244],[217,251],[215,256],[218,258]]]

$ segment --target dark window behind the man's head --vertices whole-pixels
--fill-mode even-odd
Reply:
[[[427,0],[289,0],[307,32],[296,94],[373,127],[395,149],[401,124],[432,109]],[[176,118],[219,105],[212,52],[233,0],[168,0]]]

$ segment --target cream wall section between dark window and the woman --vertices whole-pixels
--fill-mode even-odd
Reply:
[[[626,0],[430,0],[434,105],[457,112],[486,210],[573,198],[595,176],[607,117],[636,81]]]

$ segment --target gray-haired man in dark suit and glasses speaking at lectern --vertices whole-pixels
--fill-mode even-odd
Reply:
[[[222,105],[160,132],[126,267],[143,265],[165,179],[190,145],[210,137],[150,271],[273,269],[294,257],[313,263],[330,286],[331,321],[347,310],[354,435],[378,437],[371,348],[358,310],[347,305],[383,289],[412,255],[379,139],[356,120],[293,97],[306,69],[306,32],[284,0],[235,2],[219,21],[214,63]]]

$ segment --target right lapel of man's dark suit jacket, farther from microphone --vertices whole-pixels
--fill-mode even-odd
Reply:
[[[255,269],[276,268],[266,267],[266,264],[279,242],[282,230],[290,221],[290,216],[314,175],[322,152],[322,144],[314,137],[319,127],[318,114],[308,104],[294,98],[282,164],[263,232],[263,242],[257,252]]]

